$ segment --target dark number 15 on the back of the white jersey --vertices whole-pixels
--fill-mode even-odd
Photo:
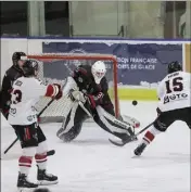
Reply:
[[[170,87],[169,80],[165,81],[166,84],[166,93],[169,94],[173,91],[182,91],[183,90],[183,84],[182,84],[183,78],[182,77],[176,77],[173,79],[173,87]]]

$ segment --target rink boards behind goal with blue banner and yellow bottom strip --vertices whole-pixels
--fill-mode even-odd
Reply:
[[[190,41],[128,39],[17,39],[1,38],[1,79],[11,66],[14,51],[42,53],[99,53],[117,56],[118,98],[155,101],[156,88],[166,75],[167,63],[179,61],[191,72]],[[50,73],[49,73],[50,74]],[[112,92],[112,89],[111,89]]]

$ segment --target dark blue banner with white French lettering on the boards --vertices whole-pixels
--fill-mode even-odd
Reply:
[[[43,53],[101,53],[113,54],[118,61],[118,84],[120,86],[151,87],[166,75],[167,64],[171,61],[182,63],[182,43],[107,43],[107,42],[42,42]],[[71,65],[68,65],[71,64]],[[44,76],[65,78],[68,67],[78,65],[79,61],[58,62],[55,65],[44,65]],[[56,65],[56,66],[58,66]],[[106,65],[109,71],[112,66]],[[71,69],[72,69],[71,68]],[[50,73],[51,72],[51,73]],[[54,72],[54,73],[53,73]],[[111,74],[111,73],[109,73]],[[109,77],[109,79],[112,77]]]

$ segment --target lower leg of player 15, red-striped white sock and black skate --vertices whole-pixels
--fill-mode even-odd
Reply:
[[[144,135],[141,143],[133,151],[135,155],[140,156],[142,152],[145,150],[145,148],[154,140],[155,136],[158,133],[161,133],[161,131],[157,130],[154,126],[152,126],[151,129],[148,130],[147,133]]]

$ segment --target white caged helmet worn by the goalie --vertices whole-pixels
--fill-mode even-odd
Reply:
[[[96,84],[100,84],[101,79],[105,76],[106,67],[102,61],[96,62],[91,66],[91,73],[93,75]]]

